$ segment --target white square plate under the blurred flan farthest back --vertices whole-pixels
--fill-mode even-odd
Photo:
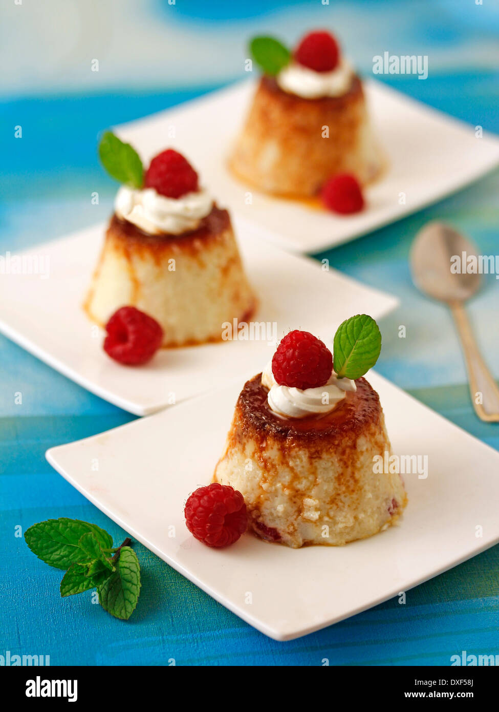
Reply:
[[[199,169],[219,204],[255,221],[267,239],[295,252],[324,250],[399,220],[499,164],[495,135],[476,138],[474,127],[374,80],[365,82],[365,90],[389,169],[367,189],[367,209],[351,216],[268,197],[231,177],[226,158],[251,102],[252,81],[116,130],[145,162],[163,148],[177,147]],[[251,205],[246,204],[248,191],[253,192]]]

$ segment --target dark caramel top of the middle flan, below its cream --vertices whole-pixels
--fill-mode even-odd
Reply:
[[[229,212],[221,209],[216,204],[211,208],[206,217],[201,218],[199,226],[195,230],[183,232],[180,235],[161,232],[152,235],[141,230],[137,225],[131,223],[124,218],[112,215],[108,233],[112,236],[120,236],[123,241],[127,242],[130,248],[148,248],[149,250],[160,250],[171,246],[173,243],[178,246],[189,246],[195,240],[206,241],[207,239],[217,237],[224,233],[231,225]]]

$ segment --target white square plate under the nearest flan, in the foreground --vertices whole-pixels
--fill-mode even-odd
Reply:
[[[47,459],[214,599],[266,635],[293,639],[406,591],[499,540],[499,453],[382,377],[372,372],[368,378],[379,392],[394,452],[428,456],[428,477],[405,476],[409,504],[399,525],[344,547],[293,550],[247,533],[226,550],[213,550],[189,534],[184,503],[211,481],[242,379],[53,448]],[[90,468],[95,460],[97,472]]]

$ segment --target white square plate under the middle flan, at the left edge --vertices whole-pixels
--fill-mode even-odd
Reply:
[[[290,328],[306,328],[330,344],[342,320],[359,312],[379,318],[398,303],[335,270],[324,271],[315,260],[269,245],[244,219],[234,226],[259,302],[252,320],[275,323],[277,340]],[[137,415],[219,388],[271,357],[274,347],[267,340],[232,340],[160,350],[137,368],[110,360],[102,349],[103,332],[81,306],[104,231],[97,225],[33,248],[31,255],[43,256],[50,266],[47,279],[2,274],[0,331],[80,386]]]

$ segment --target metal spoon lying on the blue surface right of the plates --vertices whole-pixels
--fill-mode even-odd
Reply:
[[[476,247],[451,226],[431,222],[424,226],[411,247],[411,272],[416,287],[429,296],[446,302],[456,323],[466,359],[471,402],[478,417],[499,422],[499,388],[476,345],[464,302],[480,288],[480,274],[451,272],[451,257],[477,255]],[[466,265],[465,265],[466,270]]]

